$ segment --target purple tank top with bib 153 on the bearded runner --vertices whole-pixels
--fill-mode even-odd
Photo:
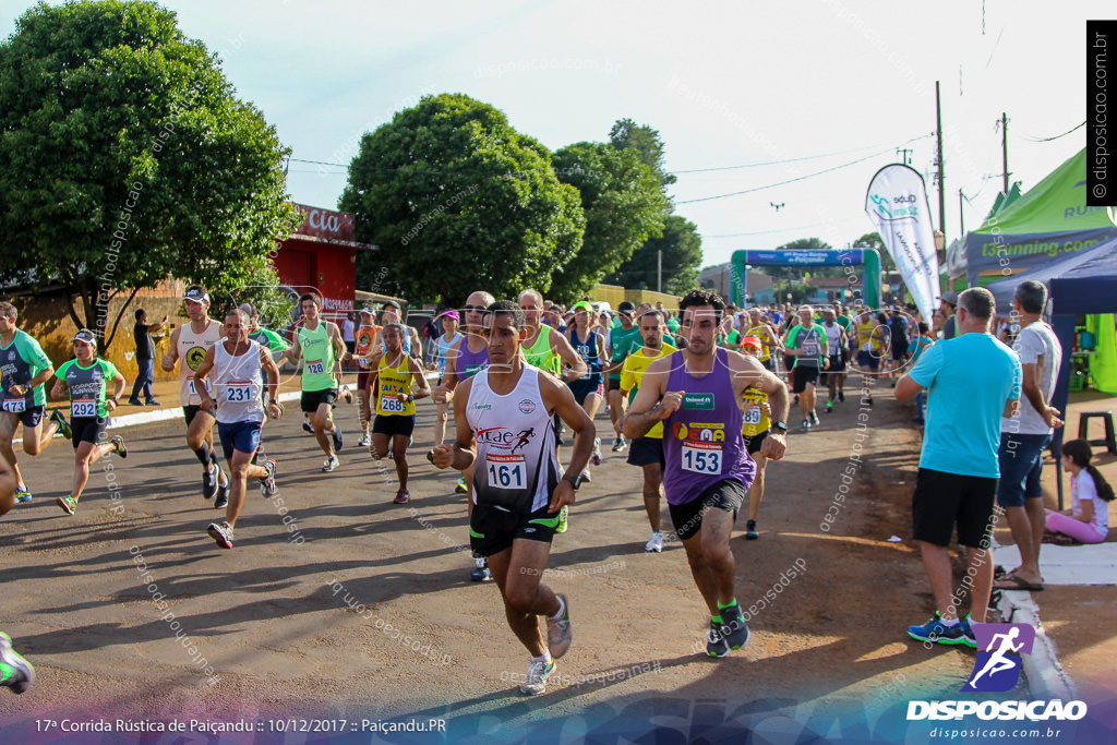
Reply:
[[[717,350],[705,378],[688,373],[682,352],[671,355],[668,391],[684,391],[682,405],[663,420],[663,490],[671,505],[694,502],[718,481],[734,479],[745,489],[756,464],[741,438],[742,413],[733,395],[728,356]]]

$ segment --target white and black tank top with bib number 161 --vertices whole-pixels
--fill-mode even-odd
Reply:
[[[466,421],[477,440],[474,502],[529,514],[545,507],[558,486],[551,414],[540,395],[538,367],[524,365],[516,388],[497,395],[488,370],[472,378]]]

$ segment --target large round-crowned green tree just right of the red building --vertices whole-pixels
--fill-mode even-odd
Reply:
[[[388,268],[380,292],[448,305],[476,289],[547,292],[585,227],[546,147],[462,94],[427,96],[365,134],[340,207],[357,240],[380,246],[362,276]]]

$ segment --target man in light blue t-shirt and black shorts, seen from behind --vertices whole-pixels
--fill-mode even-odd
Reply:
[[[1020,403],[1020,357],[989,333],[996,308],[993,294],[972,287],[958,296],[958,335],[934,344],[896,385],[905,401],[927,389],[927,424],[919,475],[911,498],[914,537],[930,580],[936,617],[908,634],[925,643],[976,647],[971,619],[985,622],[993,586],[989,546],[1000,477],[1001,417]],[[947,546],[957,525],[966,547],[970,615],[960,619],[952,594]],[[960,593],[965,594],[965,593]]]

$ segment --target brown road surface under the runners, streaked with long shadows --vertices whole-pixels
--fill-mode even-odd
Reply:
[[[38,670],[27,694],[0,697],[0,724],[29,733],[64,717],[305,716],[351,732],[364,718],[432,717],[448,722],[450,739],[478,743],[660,725],[694,742],[742,720],[757,732],[903,728],[887,713],[909,698],[955,697],[973,655],[927,650],[904,631],[933,611],[909,541],[918,432],[908,404],[886,385],[873,394],[861,407],[851,386],[834,413],[820,405],[817,431],[792,432],[787,458],[768,470],[758,541],[744,539],[738,519],[737,598],[756,611],[750,644],[722,660],[696,653],[708,615],[681,546],[643,551],[639,470],[609,452],[599,413],[605,459],[545,577],[570,599],[574,644],[533,699],[515,691],[528,659],[497,589],[467,577],[456,474],[422,457],[427,402],[404,506],[391,504],[394,474],[357,451],[355,408],[337,410],[349,445],[325,475],[289,405],[264,438],[284,502],[250,485],[232,551],[206,535],[217,514],[200,496],[181,422],[125,430],[132,455],[106,460],[112,471],[94,467],[74,517],[54,504],[71,467],[57,441],[21,460],[36,498],[0,522],[0,628]]]

